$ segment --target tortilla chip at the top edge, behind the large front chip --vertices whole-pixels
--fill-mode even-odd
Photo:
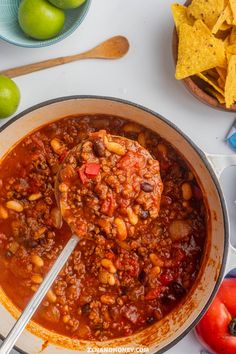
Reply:
[[[188,15],[196,20],[202,20],[209,29],[212,29],[224,7],[224,0],[193,0],[188,7]]]

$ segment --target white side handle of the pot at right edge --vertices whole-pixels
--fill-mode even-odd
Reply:
[[[231,154],[231,155],[206,154],[206,157],[210,162],[218,178],[220,178],[222,172],[227,167],[236,166],[236,154]],[[232,244],[230,244],[226,270],[225,270],[226,274],[234,268],[236,268],[236,248],[233,247]]]

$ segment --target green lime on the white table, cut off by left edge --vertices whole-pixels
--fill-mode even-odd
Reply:
[[[10,117],[20,103],[17,85],[6,76],[0,75],[0,118]]]

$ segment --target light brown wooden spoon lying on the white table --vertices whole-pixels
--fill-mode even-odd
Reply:
[[[86,52],[59,57],[49,60],[40,61],[38,63],[19,66],[16,68],[4,70],[1,75],[8,77],[17,77],[30,74],[35,71],[52,68],[54,66],[71,63],[80,59],[119,59],[122,58],[129,50],[129,41],[123,36],[115,36],[100,43],[93,49]]]

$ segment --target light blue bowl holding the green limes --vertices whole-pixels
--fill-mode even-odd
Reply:
[[[45,41],[30,38],[21,30],[17,19],[19,3],[20,0],[0,0],[0,39],[20,47],[40,48],[57,43],[73,33],[85,18],[91,0],[87,0],[77,9],[67,10],[62,31]]]

